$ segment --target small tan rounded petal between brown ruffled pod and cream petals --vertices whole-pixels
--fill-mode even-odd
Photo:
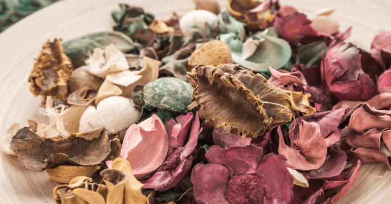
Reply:
[[[71,94],[83,87],[98,91],[103,80],[83,68],[72,71],[68,80],[68,93]]]

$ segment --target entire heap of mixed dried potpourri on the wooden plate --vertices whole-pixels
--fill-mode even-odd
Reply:
[[[113,31],[44,42],[41,107],[4,152],[57,203],[334,203],[361,164],[391,168],[391,31],[366,51],[333,9],[228,2],[120,4]]]

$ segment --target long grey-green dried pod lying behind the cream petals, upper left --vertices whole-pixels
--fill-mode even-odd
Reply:
[[[96,32],[74,38],[63,43],[65,54],[71,59],[73,67],[86,65],[88,59],[96,47],[104,49],[114,44],[121,52],[129,53],[138,50],[139,44],[133,42],[127,35],[120,32]]]

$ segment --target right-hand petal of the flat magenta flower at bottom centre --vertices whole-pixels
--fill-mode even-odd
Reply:
[[[288,203],[293,196],[293,176],[285,161],[270,153],[262,158],[257,173],[264,184],[263,203]]]

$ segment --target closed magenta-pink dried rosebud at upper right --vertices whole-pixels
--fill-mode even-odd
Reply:
[[[359,49],[351,43],[334,40],[322,60],[322,80],[340,100],[365,101],[375,96],[377,86],[362,70]]]

